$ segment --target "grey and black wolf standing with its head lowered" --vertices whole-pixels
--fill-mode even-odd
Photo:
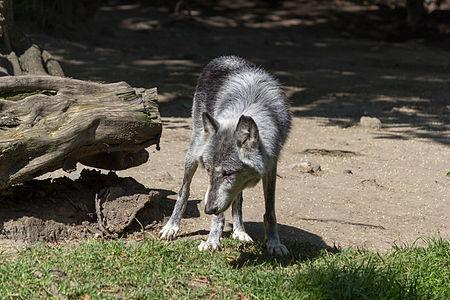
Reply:
[[[277,161],[291,126],[290,105],[278,81],[237,56],[210,61],[197,83],[192,135],[178,199],[161,239],[175,238],[200,164],[209,177],[205,213],[211,230],[199,250],[220,250],[224,211],[232,207],[232,237],[251,242],[242,222],[242,191],[263,181],[265,244],[270,255],[289,251],[281,244],[275,216]]]

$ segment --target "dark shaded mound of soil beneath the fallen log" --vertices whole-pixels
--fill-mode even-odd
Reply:
[[[160,204],[172,194],[86,169],[76,180],[32,180],[0,191],[0,237],[54,242],[121,236],[162,221]]]

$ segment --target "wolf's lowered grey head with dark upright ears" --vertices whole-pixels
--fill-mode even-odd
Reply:
[[[219,122],[203,113],[206,144],[201,156],[209,176],[205,213],[225,211],[246,187],[254,186],[265,170],[258,127],[248,116],[237,122]]]

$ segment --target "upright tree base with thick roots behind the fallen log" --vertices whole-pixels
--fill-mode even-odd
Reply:
[[[13,1],[0,0],[0,76],[64,76],[59,63],[33,44],[14,22]]]

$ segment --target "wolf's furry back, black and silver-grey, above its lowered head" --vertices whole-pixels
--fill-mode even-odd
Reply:
[[[252,117],[271,157],[278,156],[291,123],[289,103],[278,81],[237,56],[218,57],[203,69],[193,103],[195,131],[203,126],[203,112],[219,120]]]

